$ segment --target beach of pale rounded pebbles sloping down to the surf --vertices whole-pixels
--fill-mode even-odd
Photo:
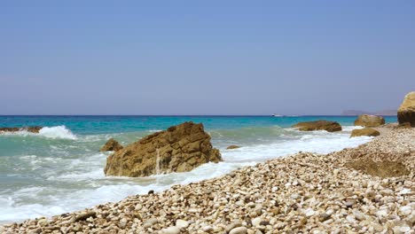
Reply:
[[[396,136],[401,138],[395,140]],[[6,233],[39,230],[45,233],[107,231],[111,233],[134,230],[138,233],[149,231],[157,233],[165,228],[174,230],[174,227],[180,227],[176,223],[177,220],[185,224],[186,227],[182,230],[189,231],[184,233],[193,233],[197,230],[200,230],[200,233],[221,233],[231,228],[239,228],[239,230],[245,228],[247,232],[244,233],[249,233],[251,230],[267,232],[294,230],[294,228],[299,231],[312,231],[325,230],[327,225],[328,228],[356,230],[356,223],[360,226],[360,230],[367,228],[368,231],[378,231],[380,226],[386,224],[393,225],[388,227],[392,230],[395,227],[402,230],[407,230],[409,227],[411,230],[415,214],[413,191],[415,187],[413,144],[415,143],[411,142],[414,137],[415,129],[394,129],[356,148],[326,155],[299,152],[199,183],[174,185],[167,191],[156,194],[133,195],[119,202],[49,218],[27,220],[20,224],[3,224],[3,226],[0,224],[0,231]],[[408,140],[409,143],[405,145]],[[380,144],[387,146],[385,149],[380,149]],[[375,148],[375,151],[371,152],[372,148]],[[379,151],[395,153],[397,155],[395,160],[403,160],[409,168],[410,175],[382,179],[344,167],[346,161],[356,160],[356,157],[353,158],[353,153],[360,150],[369,154]],[[376,158],[379,155],[375,154],[373,160],[379,160]],[[396,185],[402,180],[404,183],[401,186]],[[335,186],[332,187],[332,184]],[[354,191],[350,191],[351,188]],[[369,189],[372,190],[368,191]],[[321,197],[322,191],[330,196]],[[403,194],[402,191],[406,193]],[[372,202],[368,197],[361,198],[362,195],[372,196],[373,192],[374,199],[386,199],[389,202],[392,199],[388,197],[399,201],[402,196],[406,196],[407,204],[401,206],[404,207],[403,212],[395,208],[395,213],[392,212],[391,215],[399,217],[401,221],[408,219],[411,223],[406,221],[396,222],[400,225],[395,222],[382,223],[382,219],[386,219],[389,215],[388,212],[383,212],[382,206],[385,202],[377,207],[378,202]],[[324,204],[330,204],[331,201],[333,206],[325,207]],[[374,206],[374,209],[370,206],[364,207],[366,203]],[[395,207],[400,205],[402,204],[395,204]],[[321,209],[321,207],[325,208]],[[371,213],[373,210],[374,214]],[[407,214],[408,212],[410,214]],[[334,214],[338,213],[339,216],[334,218]],[[342,225],[339,221],[346,222],[348,225]],[[168,230],[161,233],[174,233],[166,231]]]

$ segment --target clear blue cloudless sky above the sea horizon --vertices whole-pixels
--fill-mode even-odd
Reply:
[[[0,2],[0,114],[340,114],[411,90],[414,1]]]

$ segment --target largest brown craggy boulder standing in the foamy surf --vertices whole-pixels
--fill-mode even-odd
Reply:
[[[106,159],[106,175],[147,176],[190,171],[222,160],[201,123],[184,122],[145,136]]]

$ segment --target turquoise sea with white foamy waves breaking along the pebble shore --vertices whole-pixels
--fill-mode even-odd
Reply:
[[[298,121],[338,121],[343,131],[300,132]],[[39,134],[0,134],[0,222],[62,214],[133,194],[162,191],[257,162],[309,151],[327,153],[364,144],[349,138],[356,116],[0,116],[0,127],[43,126]],[[395,122],[396,117],[386,117]],[[98,152],[110,137],[129,144],[184,121],[201,122],[223,162],[187,173],[145,178],[106,177],[110,152]],[[243,146],[225,150],[230,144]]]

